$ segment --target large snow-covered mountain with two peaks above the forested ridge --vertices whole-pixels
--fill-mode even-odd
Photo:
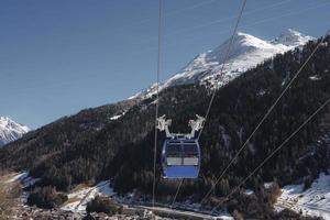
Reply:
[[[292,29],[286,30],[272,41],[264,41],[239,32],[233,38],[231,52],[227,61],[224,61],[224,56],[230,45],[230,40],[227,40],[212,51],[196,56],[180,72],[162,82],[160,90],[170,86],[194,84],[197,81],[208,81],[212,86],[223,86],[263,61],[301,46],[311,40],[314,37]],[[223,62],[226,64],[222,69]],[[147,98],[155,92],[156,84],[131,98]]]

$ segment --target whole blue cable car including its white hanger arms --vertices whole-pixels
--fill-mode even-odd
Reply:
[[[197,116],[198,117],[198,116]],[[190,134],[170,133],[168,127],[170,120],[165,116],[158,118],[157,128],[166,132],[166,140],[162,151],[162,166],[164,178],[197,178],[200,169],[200,146],[195,139],[195,132],[202,127],[204,118],[198,117],[196,121],[190,120]]]

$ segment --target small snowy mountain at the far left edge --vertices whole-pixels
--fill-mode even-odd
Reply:
[[[8,117],[0,117],[0,147],[9,142],[22,138],[30,129],[19,124]]]

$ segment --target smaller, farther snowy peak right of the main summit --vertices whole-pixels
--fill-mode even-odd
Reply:
[[[284,32],[282,32],[279,36],[273,40],[272,43],[283,44],[286,46],[299,46],[311,40],[314,40],[312,36],[301,34],[300,32],[295,31],[293,29],[287,29]]]

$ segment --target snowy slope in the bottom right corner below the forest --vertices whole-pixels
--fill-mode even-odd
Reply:
[[[330,175],[321,173],[305,191],[302,184],[285,186],[275,208],[277,210],[287,208],[304,216],[323,217],[330,220]]]

